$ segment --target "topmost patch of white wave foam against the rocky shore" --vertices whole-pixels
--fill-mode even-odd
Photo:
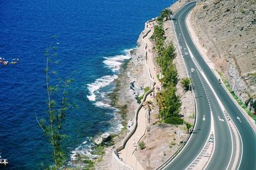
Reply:
[[[131,59],[131,50],[133,50],[133,48],[124,50],[125,55],[116,55],[115,57],[103,57],[104,59],[106,59],[103,61],[103,63],[106,64],[106,66],[113,72],[117,72],[120,70],[122,63],[125,60]]]

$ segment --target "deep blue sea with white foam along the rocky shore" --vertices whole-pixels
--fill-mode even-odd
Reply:
[[[71,104],[63,124],[70,136],[69,155],[102,132],[120,131],[120,117],[109,106],[120,64],[146,20],[172,1],[22,0],[0,1],[0,57],[18,64],[0,65],[0,150],[10,165],[4,169],[40,169],[51,162],[51,145],[36,122],[47,110],[45,48],[58,37],[58,76],[70,75]]]

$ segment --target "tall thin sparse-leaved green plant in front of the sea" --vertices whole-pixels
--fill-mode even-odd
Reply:
[[[56,44],[56,36],[52,36],[52,44]],[[60,169],[64,166],[66,160],[65,153],[61,149],[61,143],[67,138],[67,135],[63,134],[61,129],[65,113],[68,110],[66,96],[67,87],[71,80],[67,78],[60,80],[60,78],[56,77],[57,71],[50,71],[49,69],[50,66],[53,67],[57,63],[56,57],[58,53],[56,50],[57,46],[47,46],[45,50],[46,68],[44,72],[47,90],[47,115],[45,118],[41,118],[40,121],[38,121],[36,116],[38,124],[52,145],[54,163],[46,169]],[[49,78],[50,76],[52,78],[51,80]],[[57,93],[60,89],[61,91]],[[60,99],[58,99],[59,97]],[[60,103],[56,101],[60,101]]]

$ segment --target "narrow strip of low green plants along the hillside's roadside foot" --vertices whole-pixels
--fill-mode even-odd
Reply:
[[[227,88],[228,92],[230,92],[230,94],[232,94],[232,96],[234,97],[234,99],[236,99],[237,103],[246,111],[246,113],[248,115],[250,115],[250,117],[253,118],[253,120],[255,120],[255,124],[256,124],[256,115],[255,115],[255,112],[254,114],[250,111],[250,109],[247,108],[247,106],[245,104],[243,104],[243,102],[236,96],[235,92],[231,89],[228,81],[225,79],[225,76],[223,76],[223,74],[216,70],[219,74],[220,74],[220,77],[221,77],[221,80],[223,81],[223,83],[225,84],[225,87]],[[246,101],[246,103],[248,102],[249,103],[250,101],[250,97],[249,99]],[[255,110],[254,110],[255,111]]]

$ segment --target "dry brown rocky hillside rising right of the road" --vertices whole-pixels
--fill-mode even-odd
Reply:
[[[191,22],[208,57],[246,101],[246,92],[256,92],[256,0],[198,1]]]

